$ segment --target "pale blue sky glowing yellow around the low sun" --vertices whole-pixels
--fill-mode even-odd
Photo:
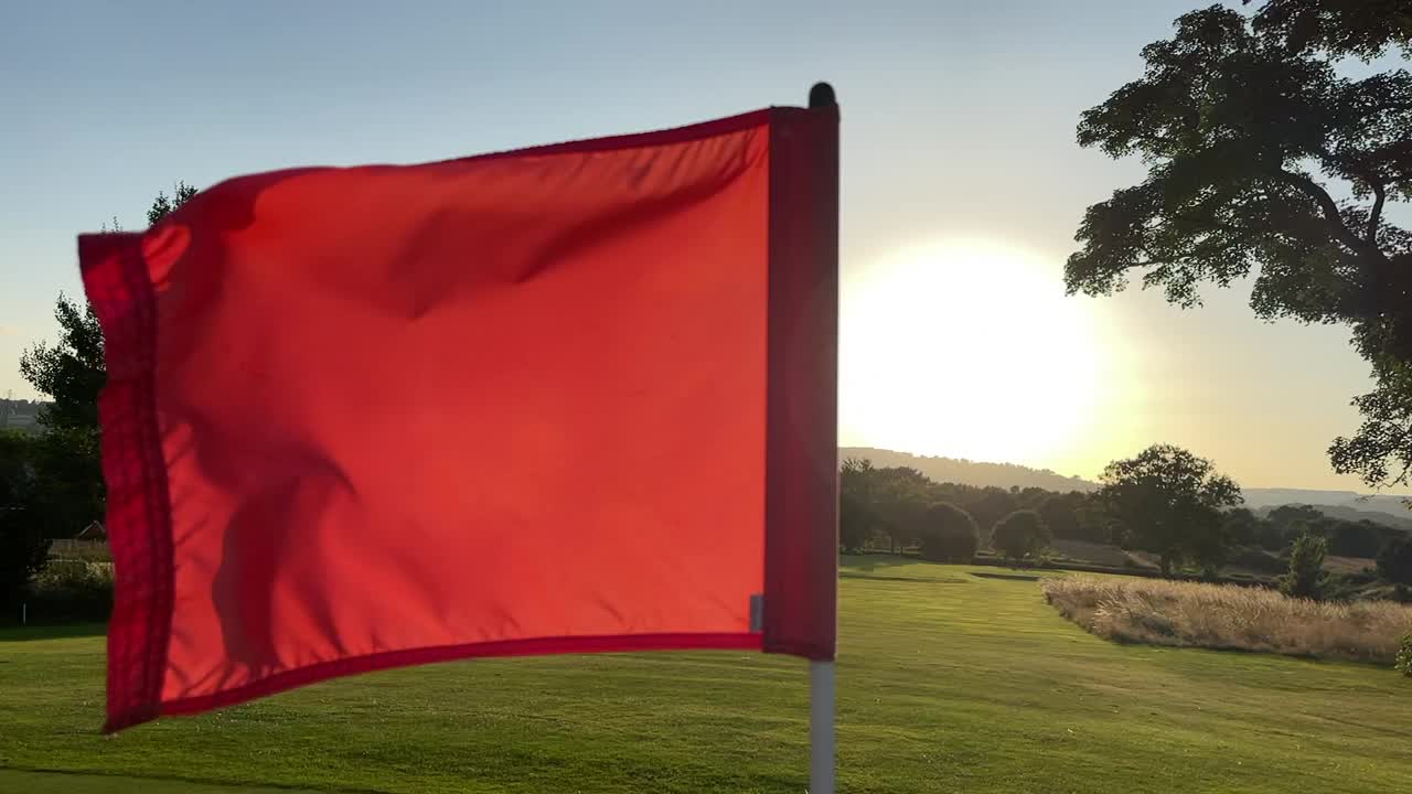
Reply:
[[[1195,0],[24,3],[0,27],[0,396],[82,294],[75,235],[158,191],[418,162],[839,93],[840,444],[1094,478],[1154,442],[1248,487],[1356,490],[1329,442],[1367,366],[1265,324],[1065,297],[1083,211],[1137,161],[1075,143]]]

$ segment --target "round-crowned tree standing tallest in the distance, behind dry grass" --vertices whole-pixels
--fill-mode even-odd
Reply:
[[[1210,561],[1223,547],[1221,509],[1244,502],[1210,461],[1166,444],[1108,463],[1100,480],[1099,499],[1123,519],[1137,548],[1161,557],[1163,575],[1186,558]]]

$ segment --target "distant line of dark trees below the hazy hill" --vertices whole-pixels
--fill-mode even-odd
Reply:
[[[991,547],[1019,562],[1052,538],[1147,551],[1165,575],[1183,567],[1216,576],[1226,565],[1284,574],[1286,592],[1315,596],[1326,555],[1377,558],[1388,582],[1412,583],[1412,534],[1371,520],[1348,521],[1310,506],[1261,516],[1210,461],[1154,445],[1114,461],[1096,492],[938,483],[905,466],[847,459],[840,470],[839,535],[844,551],[914,550],[964,562]],[[1267,552],[1275,552],[1274,557]]]

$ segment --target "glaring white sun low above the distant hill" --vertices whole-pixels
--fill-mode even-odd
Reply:
[[[843,285],[844,444],[973,461],[1080,458],[1103,348],[1056,261],[997,243],[898,250]]]

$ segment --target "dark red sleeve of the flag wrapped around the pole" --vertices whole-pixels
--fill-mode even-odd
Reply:
[[[770,124],[765,653],[830,661],[839,585],[839,109]]]

